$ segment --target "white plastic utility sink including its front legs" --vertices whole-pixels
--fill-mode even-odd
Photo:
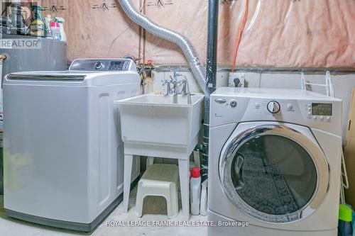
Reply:
[[[190,154],[197,145],[202,125],[204,96],[146,94],[115,101],[119,104],[124,141],[124,210],[129,209],[133,157],[178,159],[182,213],[189,220]],[[119,121],[119,120],[118,120]],[[139,168],[139,167],[135,167]]]

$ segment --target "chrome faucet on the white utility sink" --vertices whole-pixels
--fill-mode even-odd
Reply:
[[[178,77],[184,77],[184,79],[178,80]],[[168,95],[176,96],[178,94],[181,94],[182,96],[187,96],[187,103],[191,104],[190,87],[187,82],[187,77],[184,74],[180,74],[174,71],[173,77],[170,76],[170,79],[165,79],[162,82],[163,82],[163,86],[166,85],[165,96]],[[178,85],[182,86],[181,91],[178,91]]]

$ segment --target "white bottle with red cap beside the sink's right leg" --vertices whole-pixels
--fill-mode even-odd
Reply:
[[[201,198],[201,174],[200,169],[195,167],[191,170],[190,178],[190,205],[191,214],[200,214],[200,198]]]

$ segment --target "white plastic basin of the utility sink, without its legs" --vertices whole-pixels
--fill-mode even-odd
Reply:
[[[146,94],[114,101],[121,113],[122,140],[151,148],[192,147],[202,125],[203,94],[187,96]]]

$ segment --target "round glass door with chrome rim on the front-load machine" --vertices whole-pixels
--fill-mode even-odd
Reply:
[[[219,178],[226,195],[239,210],[266,222],[307,217],[327,193],[324,153],[308,128],[258,124],[239,124],[222,149]]]

